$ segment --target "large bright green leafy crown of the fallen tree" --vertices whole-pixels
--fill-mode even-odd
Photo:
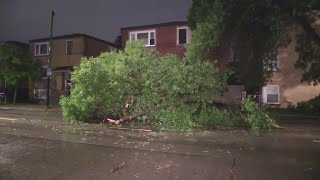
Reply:
[[[67,122],[146,112],[145,118],[157,116],[165,129],[174,130],[192,128],[194,112],[187,109],[199,109],[208,97],[222,92],[227,79],[215,63],[159,56],[142,42],[83,58],[72,75],[71,95],[60,101]]]

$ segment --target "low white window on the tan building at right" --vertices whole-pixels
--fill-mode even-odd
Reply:
[[[267,85],[262,88],[263,103],[279,104],[280,87],[279,85]]]

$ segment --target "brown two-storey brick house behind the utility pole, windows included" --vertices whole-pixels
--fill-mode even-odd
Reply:
[[[49,41],[49,38],[29,41],[34,59],[40,61],[43,67],[42,80],[36,82],[29,89],[32,90],[30,94],[33,95],[33,99],[41,102],[46,99]],[[85,34],[53,37],[52,46],[52,78],[50,83],[50,102],[52,104],[57,104],[61,95],[69,93],[71,72],[75,66],[80,64],[82,57],[96,57],[102,52],[117,49],[112,43]]]

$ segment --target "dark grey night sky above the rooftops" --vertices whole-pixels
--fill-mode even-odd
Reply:
[[[121,27],[184,21],[192,0],[0,0],[0,42],[85,33],[113,42]]]

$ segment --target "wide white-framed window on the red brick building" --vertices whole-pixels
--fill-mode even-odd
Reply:
[[[146,47],[156,45],[156,32],[155,30],[151,31],[136,31],[130,32],[130,41],[142,40]]]

